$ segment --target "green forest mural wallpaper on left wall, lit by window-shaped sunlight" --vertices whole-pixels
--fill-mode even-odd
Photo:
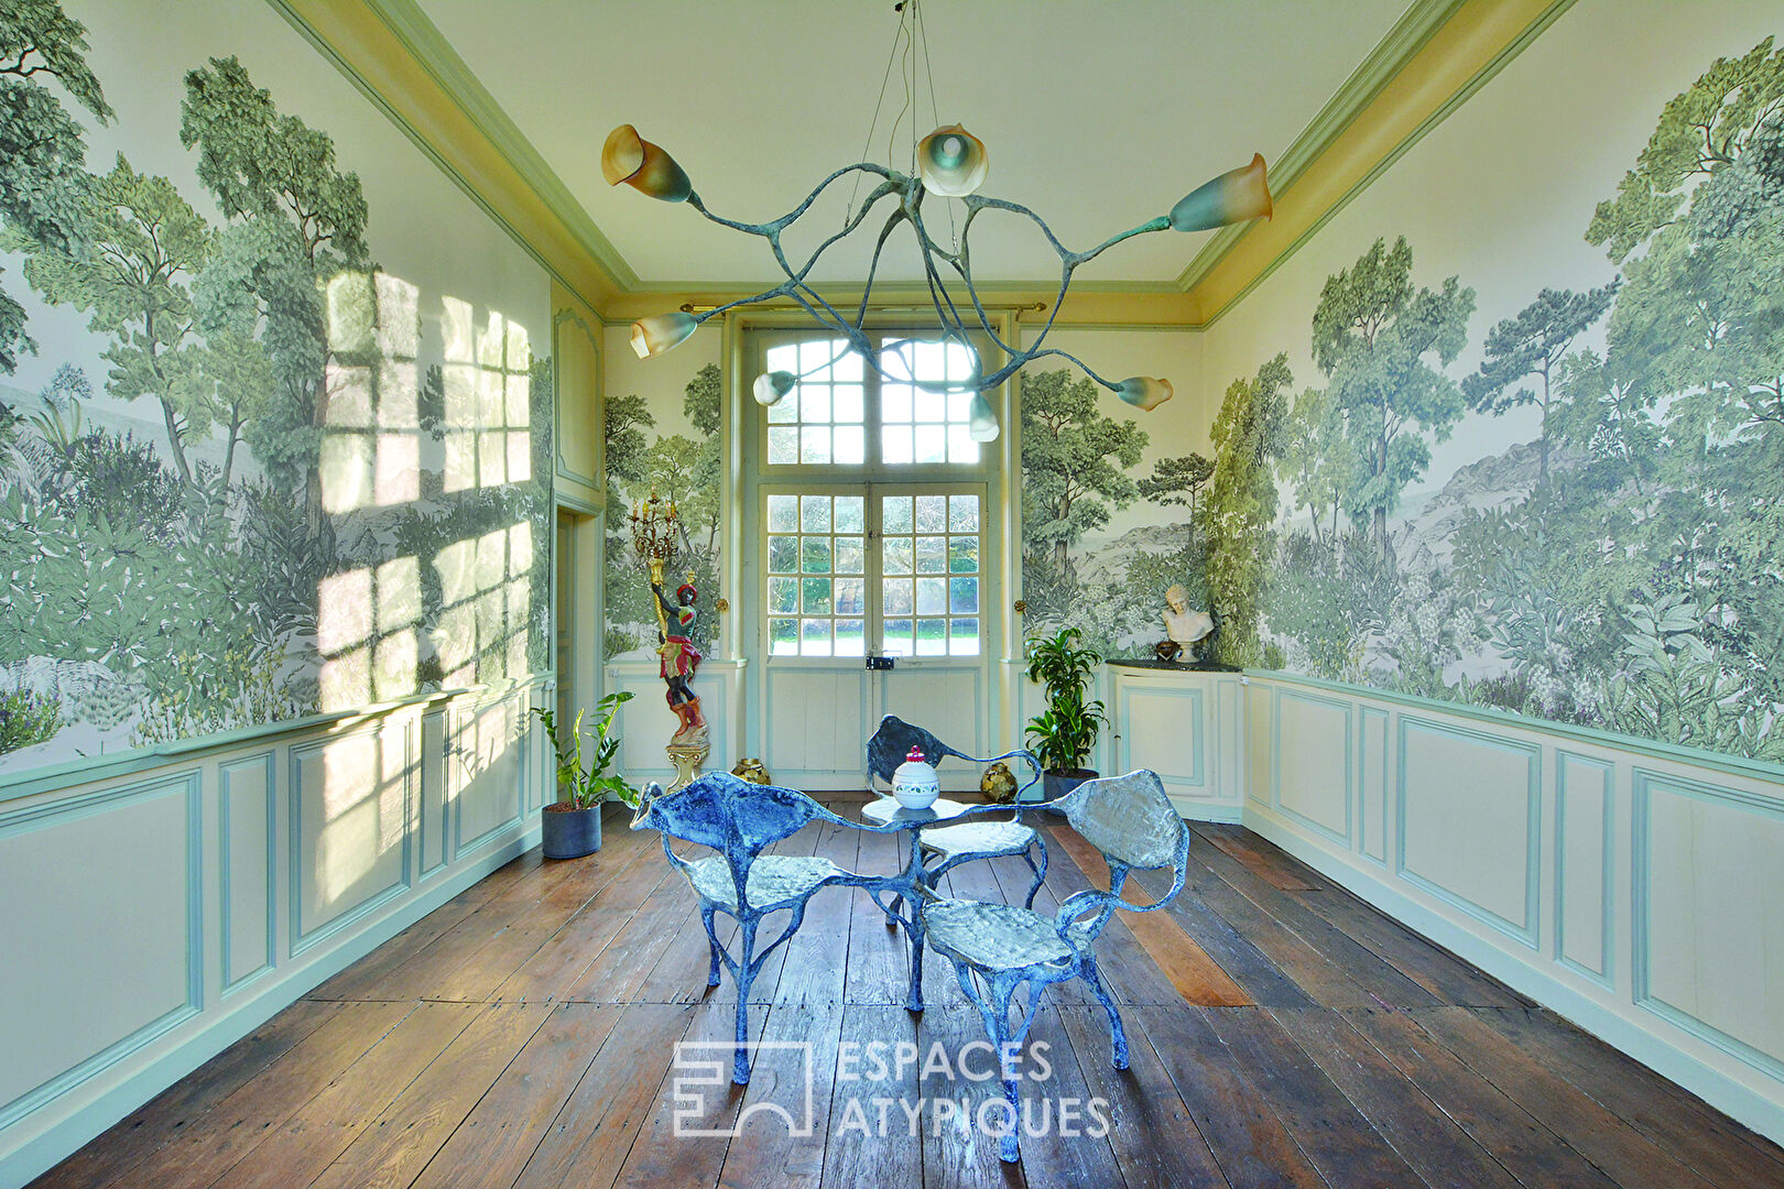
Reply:
[[[380,269],[351,162],[234,57],[145,66],[202,193],[89,160],[103,32],[0,5],[0,770],[546,668],[528,328]]]

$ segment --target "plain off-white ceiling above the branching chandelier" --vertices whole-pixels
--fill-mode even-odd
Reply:
[[[778,276],[767,244],[601,176],[621,123],[657,141],[715,214],[767,221],[862,159],[897,14],[892,0],[419,0],[458,55],[646,283]],[[1165,214],[1261,152],[1274,160],[1388,32],[1406,0],[926,0],[940,119],[919,78],[917,134],[963,123],[985,141],[981,194],[1024,203],[1069,248]],[[904,100],[897,70],[869,157]],[[908,168],[912,118],[899,130]],[[840,189],[840,193],[837,193]],[[863,182],[862,189],[871,189]],[[810,251],[844,219],[831,187],[787,234]],[[931,200],[933,201],[933,200]],[[954,203],[958,207],[958,203]],[[890,200],[883,200],[890,210]],[[931,234],[947,219],[926,203]],[[881,219],[837,244],[814,280],[860,280]],[[872,230],[869,230],[872,228]],[[801,234],[803,232],[803,234]],[[1083,280],[1170,282],[1208,234],[1145,235]],[[865,242],[856,242],[865,241]],[[1058,258],[1020,219],[981,214],[981,282],[1056,280]],[[921,278],[908,232],[880,275]]]

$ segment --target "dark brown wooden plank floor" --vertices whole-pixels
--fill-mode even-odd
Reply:
[[[860,795],[830,799],[847,811]],[[706,939],[655,834],[615,809],[591,859],[528,854],[275,1016],[82,1152],[43,1189],[357,1189],[378,1185],[1784,1185],[1784,1152],[1522,1000],[1238,827],[1197,827],[1188,888],[1113,922],[1099,963],[1124,1004],[1133,1066],[1081,986],[1049,993],[1033,1030],[1051,1075],[1031,1098],[1101,1098],[1106,1134],[1024,1141],[1003,1166],[962,1112],[995,1095],[912,1064],[838,1070],[838,1043],[928,1054],[981,1039],[951,968],[926,968],[906,1013],[899,936],[860,893],[819,893],[751,995],[751,1034],[808,1041],[805,1075],[765,1052],[751,1086],[708,1093],[676,1137],[671,1057],[730,1036],[737,993],[706,989]],[[1047,824],[1053,913],[1104,879],[1095,850]],[[888,870],[887,838],[826,827],[787,840]],[[1017,859],[954,868],[951,895],[1020,902]],[[1136,900],[1163,895],[1156,873]],[[723,920],[723,918],[721,918]],[[769,936],[772,936],[772,929]],[[1035,1052],[1035,1048],[1031,1048]],[[897,1100],[929,1105],[910,1123]],[[878,1100],[890,1098],[890,1114]],[[881,1137],[881,1119],[888,1137]],[[853,1119],[865,1119],[867,1128]]]

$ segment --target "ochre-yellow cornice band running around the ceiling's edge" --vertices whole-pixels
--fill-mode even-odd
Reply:
[[[758,282],[644,282],[416,0],[268,0],[553,278],[603,321],[717,305]],[[1572,0],[1415,0],[1272,164],[1276,217],[1217,232],[1176,283],[1079,282],[1058,321],[1202,328],[1484,86]],[[912,298],[922,285],[910,285]],[[1051,301],[1035,282],[987,283],[999,303]],[[824,291],[849,299],[847,287]],[[853,291],[860,299],[860,289]],[[899,305],[876,285],[876,305]]]

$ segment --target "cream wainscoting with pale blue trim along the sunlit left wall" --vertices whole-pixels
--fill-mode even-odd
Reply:
[[[0,790],[0,1187],[532,847],[551,677]]]

